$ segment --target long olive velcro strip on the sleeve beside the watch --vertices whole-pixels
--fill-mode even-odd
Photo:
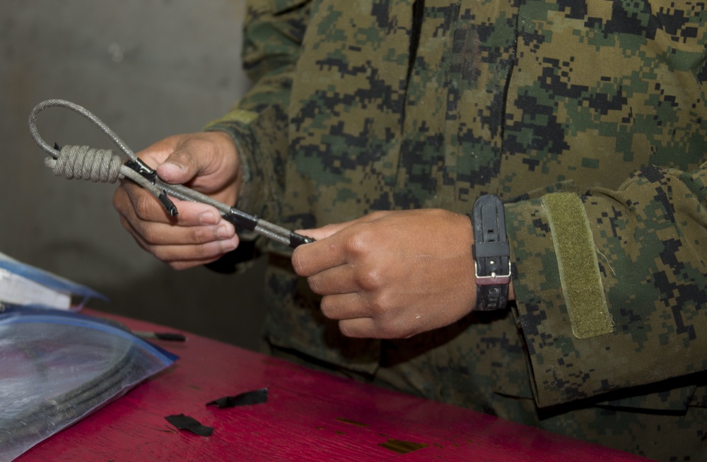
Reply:
[[[542,202],[547,211],[572,333],[577,338],[611,333],[614,323],[582,201],[576,194],[555,193],[543,196]]]

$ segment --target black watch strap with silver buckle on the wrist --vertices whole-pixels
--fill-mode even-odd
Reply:
[[[474,268],[477,310],[503,309],[508,304],[510,246],[506,237],[506,215],[496,196],[481,196],[469,214],[474,227]]]

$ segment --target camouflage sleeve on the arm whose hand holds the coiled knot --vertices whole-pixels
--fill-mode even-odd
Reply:
[[[228,114],[205,127],[233,137],[245,179],[236,206],[266,220],[277,220],[274,198],[287,152],[291,73],[308,16],[305,0],[247,2],[243,66],[254,85]]]

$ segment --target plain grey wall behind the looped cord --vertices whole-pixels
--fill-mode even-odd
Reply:
[[[43,100],[76,102],[132,150],[198,131],[247,90],[243,0],[0,1],[0,251],[110,297],[92,306],[256,348],[262,263],[240,276],[173,271],[112,208],[115,185],[54,177],[27,129]],[[68,109],[49,143],[113,148]]]

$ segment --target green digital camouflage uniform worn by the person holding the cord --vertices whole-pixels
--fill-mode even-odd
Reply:
[[[344,338],[262,242],[269,343],[636,454],[707,458],[705,8],[252,1],[255,86],[207,127],[240,149],[238,206],[300,228],[497,194],[517,298],[409,340]],[[578,281],[587,249],[596,280]],[[585,287],[598,317],[576,303]]]

